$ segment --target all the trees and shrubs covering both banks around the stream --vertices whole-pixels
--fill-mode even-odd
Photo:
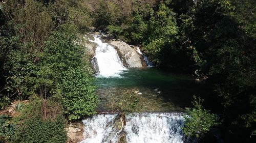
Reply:
[[[198,137],[195,128],[202,128],[203,138],[218,126],[225,142],[251,142],[255,6],[254,0],[6,0],[0,4],[0,109],[17,100],[20,111],[0,115],[0,142],[66,142],[67,122],[96,113],[93,72],[79,42],[91,26],[140,46],[158,68],[197,70],[206,78],[213,94],[201,97],[205,102],[195,98],[186,135]]]

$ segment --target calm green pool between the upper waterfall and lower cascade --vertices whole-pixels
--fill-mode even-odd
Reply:
[[[156,68],[128,69],[121,77],[97,77],[97,111],[116,111],[123,101],[137,98],[136,111],[183,111],[193,95],[205,94],[193,76]]]

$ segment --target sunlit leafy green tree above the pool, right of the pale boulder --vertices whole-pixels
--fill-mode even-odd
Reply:
[[[178,27],[175,13],[164,4],[160,4],[158,11],[151,15],[146,33],[142,48],[150,60],[156,65],[168,63],[169,54],[176,50]]]

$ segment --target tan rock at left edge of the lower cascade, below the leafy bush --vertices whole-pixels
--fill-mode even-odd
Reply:
[[[80,142],[83,140],[83,124],[71,123],[66,127],[68,143]]]

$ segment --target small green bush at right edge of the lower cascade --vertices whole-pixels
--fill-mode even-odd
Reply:
[[[196,98],[193,102],[194,108],[187,110],[187,115],[184,115],[185,123],[183,131],[187,136],[203,136],[212,126],[218,125],[218,118],[209,110],[203,108],[204,100]]]

